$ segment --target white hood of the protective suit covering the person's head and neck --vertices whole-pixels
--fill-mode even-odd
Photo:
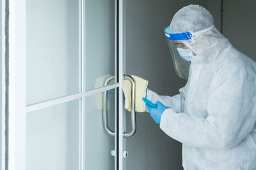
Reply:
[[[191,32],[191,39],[180,40],[196,53],[191,63],[214,62],[232,47],[214,26],[211,13],[198,5],[180,9],[172,19],[170,32]]]

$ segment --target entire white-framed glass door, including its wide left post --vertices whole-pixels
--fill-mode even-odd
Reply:
[[[3,2],[5,169],[125,169],[123,1]]]

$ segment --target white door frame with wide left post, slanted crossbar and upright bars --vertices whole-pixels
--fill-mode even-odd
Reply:
[[[80,0],[81,13],[84,16],[84,1]],[[123,93],[122,93],[122,83],[123,75],[125,70],[125,0],[116,0],[116,11],[118,11],[118,17],[116,23],[118,25],[116,29],[117,35],[117,46],[116,46],[116,78],[117,83],[113,85],[108,85],[107,87],[100,87],[98,89],[86,91],[84,88],[84,57],[81,57],[81,92],[77,94],[72,94],[64,97],[58,97],[56,99],[51,99],[50,101],[44,101],[37,104],[31,104],[26,106],[26,0],[2,0],[2,56],[6,56],[9,60],[8,62],[8,82],[10,85],[6,91],[9,92],[8,99],[6,99],[6,118],[4,122],[7,123],[6,140],[2,143],[6,144],[6,154],[2,152],[2,162],[6,162],[5,166],[2,164],[2,169],[8,170],[25,170],[26,169],[26,113],[46,108],[49,106],[54,106],[56,104],[65,103],[68,101],[73,101],[75,99],[80,99],[80,117],[83,120],[84,113],[84,97],[96,94],[99,92],[104,92],[105,90],[118,89],[117,93],[117,110],[116,110],[116,142],[115,148],[116,152],[116,168],[115,169],[125,169],[125,159],[123,158],[123,152],[125,150],[125,138],[123,137],[125,131],[125,111],[123,107]],[[5,8],[6,7],[6,8]],[[7,11],[7,13],[5,13]],[[10,11],[10,13],[8,12]],[[5,18],[8,18],[5,21]],[[4,20],[3,20],[4,18]],[[83,20],[83,17],[81,18]],[[81,28],[84,28],[84,22],[81,22]],[[4,27],[4,24],[5,27]],[[6,28],[6,31],[4,31]],[[83,36],[81,31],[80,37]],[[4,36],[5,35],[5,36]],[[83,36],[84,37],[84,36]],[[5,43],[5,39],[6,42]],[[84,45],[84,38],[80,39],[81,45]],[[82,47],[81,49],[83,49]],[[6,49],[6,52],[4,51]],[[81,51],[81,56],[83,55],[83,50]],[[3,55],[4,54],[4,55]],[[4,73],[5,74],[5,73]],[[4,113],[4,112],[3,112]],[[80,124],[80,129],[83,129],[83,122]],[[4,124],[3,124],[4,125]],[[83,130],[80,132],[80,141],[83,143]],[[3,148],[3,145],[2,145]],[[83,150],[83,144],[80,145]],[[5,155],[5,156],[4,156]],[[83,159],[83,152],[81,152],[80,160]],[[83,169],[83,161],[81,161],[80,169]],[[4,167],[3,167],[4,166]]]

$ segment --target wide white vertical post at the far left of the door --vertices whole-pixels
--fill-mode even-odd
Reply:
[[[4,0],[3,0],[4,1]],[[9,59],[9,98],[6,99],[6,143],[5,169],[26,169],[26,1],[5,0],[8,32],[5,34],[6,58]],[[8,15],[6,13],[6,15]],[[8,50],[8,51],[7,51]]]

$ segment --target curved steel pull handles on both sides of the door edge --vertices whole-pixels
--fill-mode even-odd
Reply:
[[[124,74],[124,79],[127,79],[129,81],[131,81],[132,83],[132,97],[131,97],[131,106],[132,106],[132,109],[131,109],[131,124],[132,124],[132,129],[131,129],[131,132],[124,132],[123,136],[124,138],[128,138],[128,137],[131,137],[135,134],[136,132],[136,112],[135,112],[135,102],[134,102],[134,99],[135,99],[135,82],[133,80],[133,78],[129,75],[125,75]],[[109,76],[109,78],[107,78],[104,82],[104,86],[108,85],[109,81],[111,80],[115,80],[115,76]],[[102,110],[102,118],[103,118],[103,125],[104,125],[104,129],[106,130],[106,132],[108,134],[110,134],[111,136],[115,136],[115,132],[112,131],[111,129],[109,129],[109,126],[108,126],[108,99],[107,99],[107,96],[108,96],[108,91],[105,91],[104,92],[104,95],[103,95],[103,110]]]

